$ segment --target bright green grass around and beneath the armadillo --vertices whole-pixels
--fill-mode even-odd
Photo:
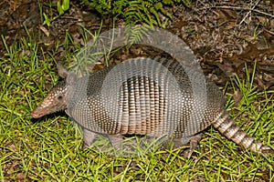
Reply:
[[[37,47],[23,39],[6,47],[6,55],[0,57],[1,181],[274,180],[273,156],[261,157],[238,147],[213,127],[205,131],[189,159],[179,155],[180,149],[159,149],[132,158],[82,150],[81,138],[68,116],[56,113],[33,119],[29,115],[58,82],[55,62],[42,56]],[[243,98],[235,106],[227,95],[227,110],[250,136],[273,148],[273,93],[256,93],[252,80],[251,76],[234,82]]]

